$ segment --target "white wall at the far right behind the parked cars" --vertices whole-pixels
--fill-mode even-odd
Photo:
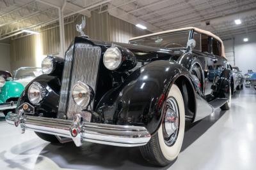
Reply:
[[[244,42],[244,38],[248,38],[249,41]],[[227,52],[233,48],[233,43],[230,41],[234,41],[234,58],[236,66],[238,66],[243,73],[247,73],[248,69],[256,71],[256,32],[247,35],[237,35],[234,39],[223,41]],[[228,53],[226,53],[226,55],[227,54]]]

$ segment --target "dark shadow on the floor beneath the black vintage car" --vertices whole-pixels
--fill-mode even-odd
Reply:
[[[196,139],[217,122],[225,111],[216,111],[200,122],[186,126],[186,132],[181,152],[188,148]],[[124,148],[95,143],[86,143],[76,147],[74,143],[63,145],[49,144],[40,153],[48,157],[58,166],[65,168],[85,169],[91,166],[92,169],[167,169],[168,167],[154,167],[148,164],[140,154],[139,148]],[[38,157],[39,163],[42,157]]]

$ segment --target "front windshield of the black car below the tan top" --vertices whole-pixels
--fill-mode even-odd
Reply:
[[[159,48],[187,48],[189,31],[150,36],[130,41],[132,45],[145,45]]]

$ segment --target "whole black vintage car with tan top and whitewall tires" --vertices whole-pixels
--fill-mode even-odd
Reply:
[[[216,67],[221,73],[209,81]],[[49,56],[42,69],[8,123],[50,142],[140,146],[158,166],[176,159],[185,123],[230,108],[232,71],[223,43],[195,27],[129,44],[76,37],[65,59]]]

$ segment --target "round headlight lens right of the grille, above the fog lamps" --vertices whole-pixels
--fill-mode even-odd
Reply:
[[[122,53],[116,46],[112,46],[104,53],[103,62],[105,67],[115,70],[122,62]]]

